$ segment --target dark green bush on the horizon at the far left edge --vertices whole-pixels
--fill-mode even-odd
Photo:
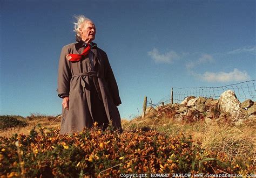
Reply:
[[[18,120],[15,117],[12,116],[0,116],[0,130],[4,130],[4,129],[9,129],[11,127],[24,127],[28,125],[25,121],[23,120]]]

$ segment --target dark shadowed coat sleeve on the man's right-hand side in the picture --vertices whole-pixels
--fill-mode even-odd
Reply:
[[[107,82],[107,86],[109,88],[110,94],[113,98],[113,102],[116,106],[120,105],[121,99],[119,96],[118,86],[116,79],[114,78],[113,70],[110,66],[109,59],[107,58],[106,53],[104,52],[106,66],[105,66],[105,80]]]

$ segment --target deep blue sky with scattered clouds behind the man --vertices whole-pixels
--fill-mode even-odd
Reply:
[[[256,79],[256,1],[0,0],[0,114],[57,115],[61,48],[75,42],[73,15],[96,24],[95,42],[119,86],[122,118],[171,87]]]

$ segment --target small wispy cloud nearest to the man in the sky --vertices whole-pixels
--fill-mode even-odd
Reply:
[[[173,63],[174,60],[180,59],[180,56],[174,51],[160,54],[157,48],[153,48],[152,51],[147,52],[147,54],[150,55],[155,62],[161,63]]]

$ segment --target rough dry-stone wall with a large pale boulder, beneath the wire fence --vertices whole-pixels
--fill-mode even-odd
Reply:
[[[180,104],[167,104],[146,110],[148,117],[170,117],[176,120],[193,122],[205,119],[226,119],[235,124],[241,124],[244,120],[256,120],[256,102],[251,99],[240,103],[232,90],[221,94],[219,99],[189,96]]]

